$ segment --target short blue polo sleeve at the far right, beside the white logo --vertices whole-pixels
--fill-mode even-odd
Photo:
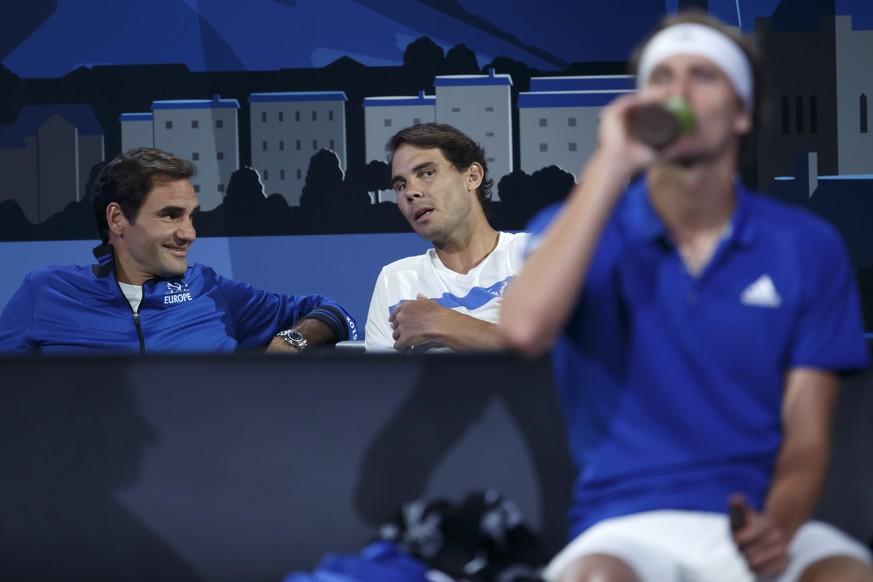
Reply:
[[[824,230],[826,236],[815,237],[816,244],[805,249],[809,276],[801,282],[806,299],[791,365],[837,372],[865,368],[869,350],[857,282],[839,234],[830,227]]]

